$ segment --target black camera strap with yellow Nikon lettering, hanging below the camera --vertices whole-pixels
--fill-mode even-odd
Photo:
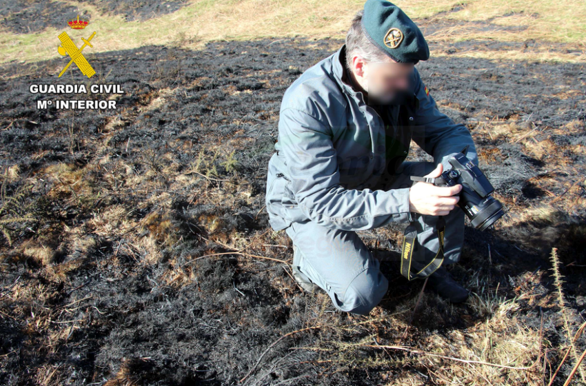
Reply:
[[[405,236],[403,236],[403,248],[401,250],[401,274],[408,280],[414,278],[426,278],[433,274],[443,263],[443,235],[445,232],[445,220],[443,216],[439,216],[436,224],[438,232],[438,251],[436,256],[429,263],[423,262],[425,266],[418,272],[412,272],[412,257],[415,249],[415,242],[417,240],[417,229],[414,224],[409,225],[405,229]]]

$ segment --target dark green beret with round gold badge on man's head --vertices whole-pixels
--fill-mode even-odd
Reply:
[[[421,30],[393,3],[367,0],[361,24],[367,38],[394,61],[417,63],[430,59],[430,48]]]

